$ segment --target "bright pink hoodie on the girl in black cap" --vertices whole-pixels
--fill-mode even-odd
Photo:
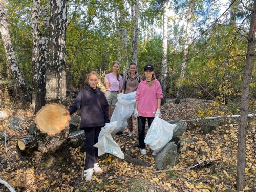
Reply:
[[[157,98],[162,99],[163,93],[160,82],[155,79],[153,86],[148,86],[146,81],[141,81],[137,92],[136,101],[138,101],[138,113],[142,117],[155,117],[157,111]]]

